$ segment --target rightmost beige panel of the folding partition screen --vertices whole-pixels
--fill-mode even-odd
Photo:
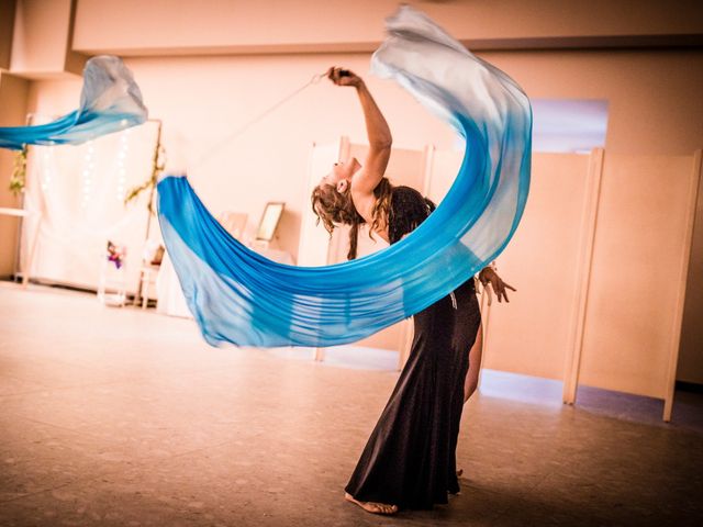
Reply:
[[[580,384],[665,397],[691,167],[606,154]]]

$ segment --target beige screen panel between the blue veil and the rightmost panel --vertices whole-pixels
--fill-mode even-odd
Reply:
[[[578,309],[578,259],[588,191],[589,156],[533,158],[531,194],[513,240],[498,259],[517,289],[493,302],[484,367],[561,380]]]

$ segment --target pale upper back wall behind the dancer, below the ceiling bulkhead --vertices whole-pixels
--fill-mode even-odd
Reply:
[[[703,143],[703,53],[484,53],[510,72],[531,97],[610,101],[605,148],[613,154],[690,154]],[[170,157],[176,133],[196,154],[332,64],[366,74],[367,54],[248,57],[132,58],[150,115],[163,119]],[[399,147],[434,143],[450,148],[451,133],[395,86],[368,79]],[[63,113],[75,108],[79,81],[41,81],[31,110]],[[192,167],[191,178],[215,213],[248,212],[258,218],[266,201],[288,203],[282,224],[295,254],[301,206],[308,206],[305,170],[310,145],[349,135],[364,142],[364,122],[352,90],[321,82],[306,89],[221,150]],[[684,103],[685,101],[685,103]],[[256,175],[256,177],[254,177]],[[246,189],[246,192],[242,190]]]

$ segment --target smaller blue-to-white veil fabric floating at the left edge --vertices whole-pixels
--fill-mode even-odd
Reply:
[[[46,124],[0,127],[0,147],[20,150],[24,145],[78,145],[146,119],[132,72],[120,58],[101,55],[86,63],[78,110]]]

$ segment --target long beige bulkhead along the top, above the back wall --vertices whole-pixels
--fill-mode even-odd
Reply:
[[[80,0],[74,47],[86,53],[371,51],[395,0]],[[563,37],[687,35],[703,20],[694,0],[415,1],[453,35],[492,46],[563,45]],[[696,16],[696,12],[699,16]],[[613,38],[615,37],[615,38]],[[573,41],[571,46],[574,45]],[[582,41],[578,41],[582,42]],[[631,41],[632,42],[632,41]],[[507,44],[506,44],[507,43]]]

